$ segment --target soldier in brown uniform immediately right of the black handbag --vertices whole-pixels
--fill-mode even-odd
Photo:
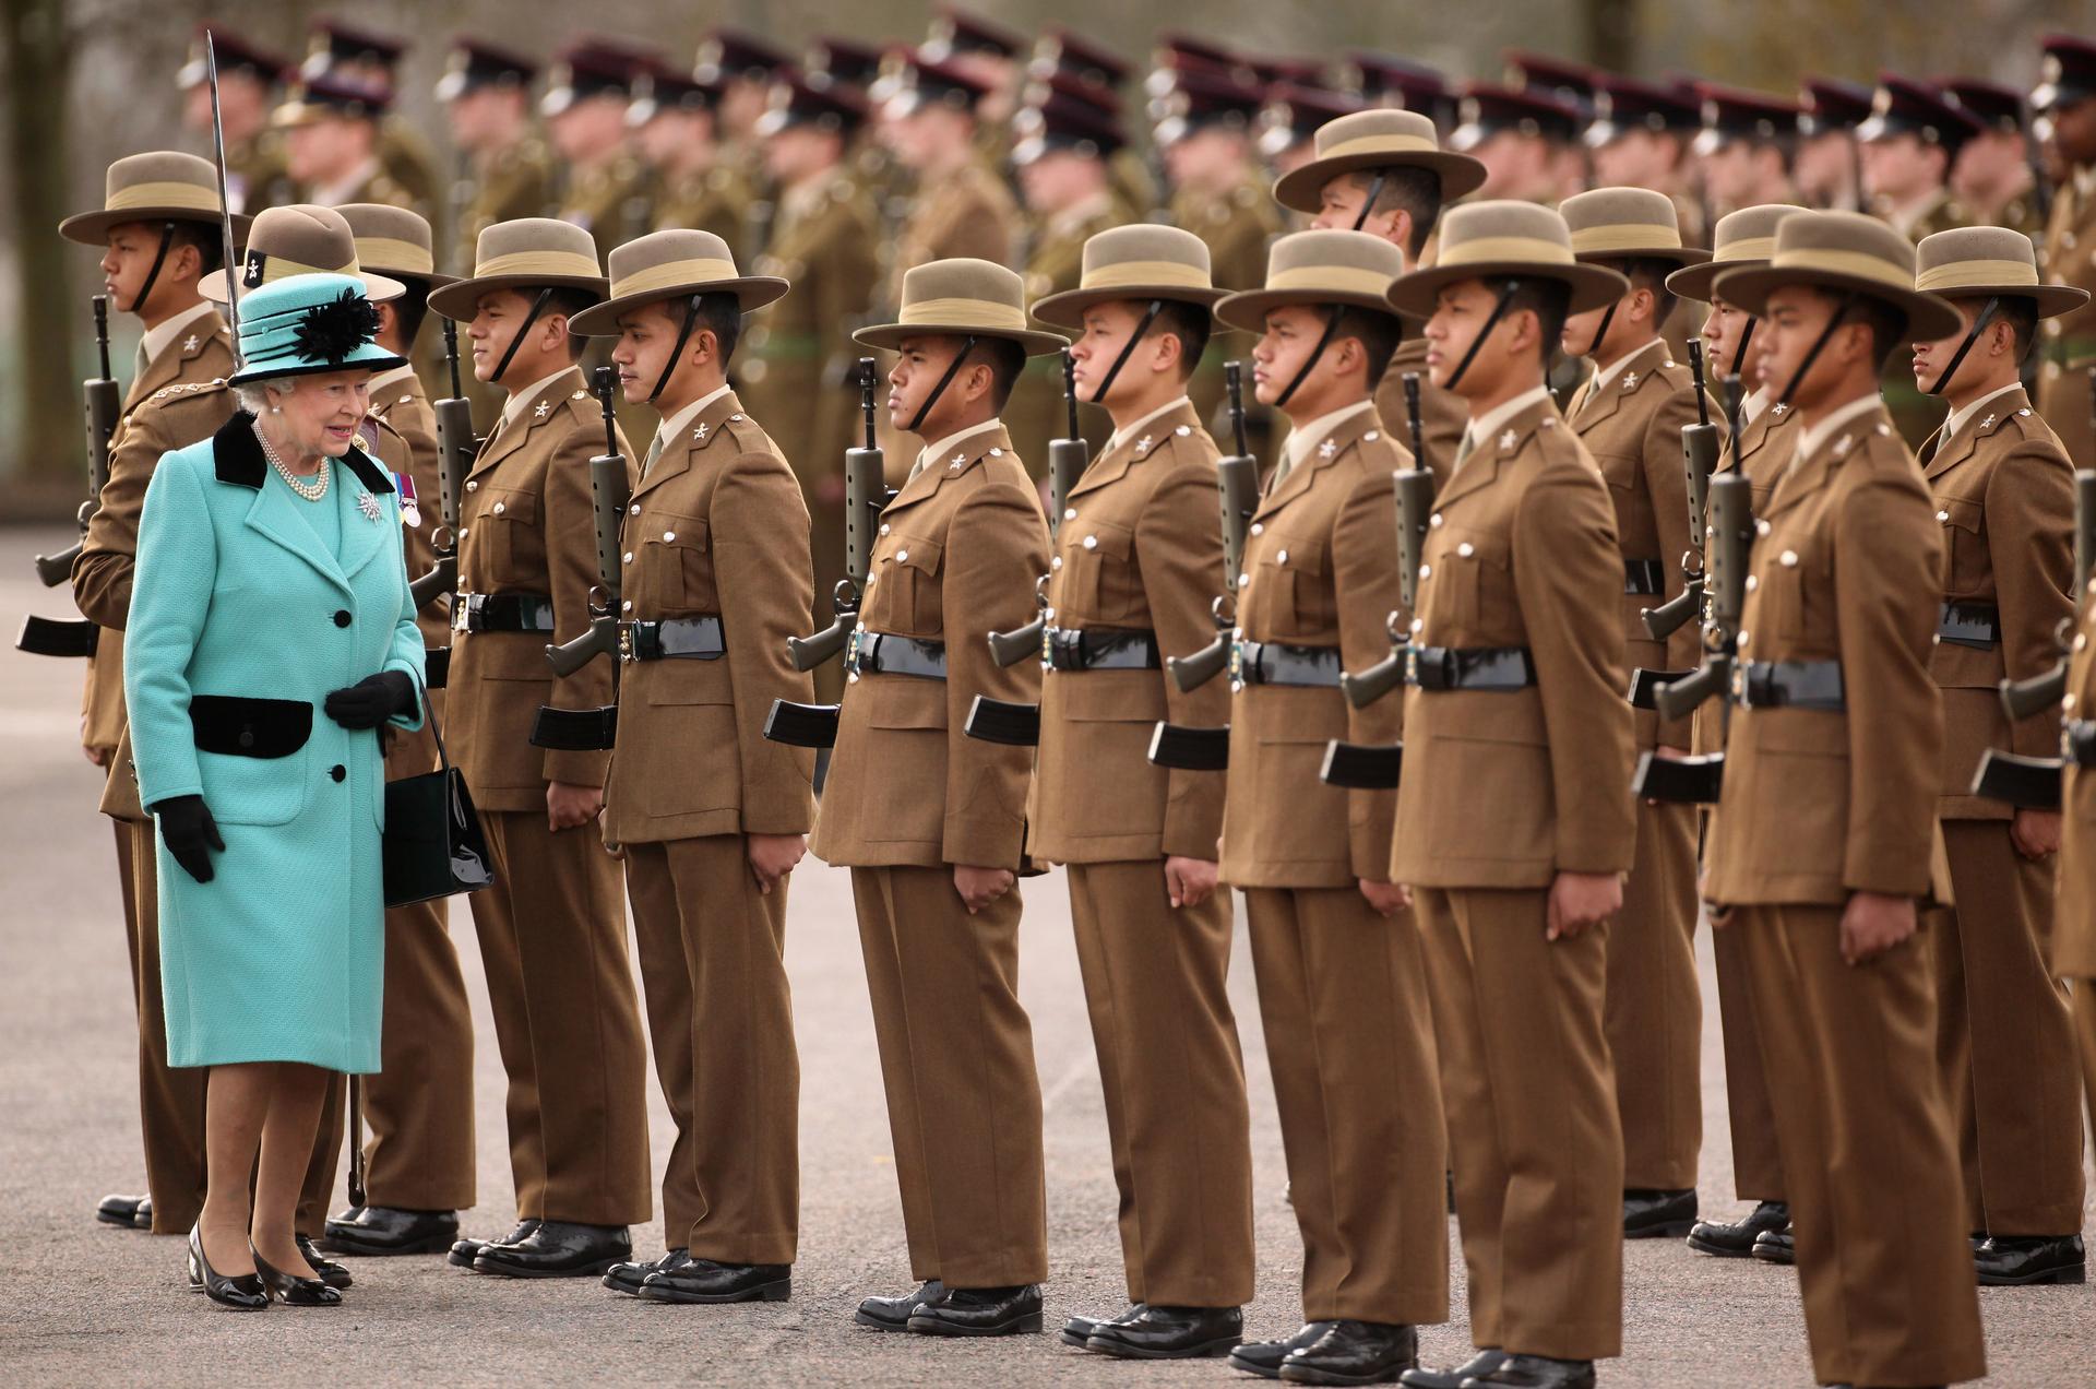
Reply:
[[[648,1060],[618,862],[595,825],[608,751],[532,745],[541,718],[612,694],[608,663],[555,678],[545,657],[589,627],[599,581],[589,460],[606,432],[568,323],[604,292],[587,231],[524,218],[480,233],[474,277],[430,296],[467,325],[474,376],[509,397],[459,501],[446,711],[495,860],[495,885],[470,904],[518,1198],[509,1236],[461,1238],[451,1263],[514,1278],[604,1274],[633,1257],[627,1227],[650,1213]],[[612,443],[631,472],[633,451]]]

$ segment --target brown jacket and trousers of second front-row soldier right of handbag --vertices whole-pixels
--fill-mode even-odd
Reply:
[[[807,833],[813,755],[763,736],[807,703],[786,659],[809,606],[807,508],[771,439],[725,392],[648,464],[625,520],[629,617],[719,617],[725,657],[629,661],[604,787],[625,846],[656,1076],[677,1120],[662,1240],[694,1259],[792,1263],[801,1060],[786,888],[757,890],[744,835]]]

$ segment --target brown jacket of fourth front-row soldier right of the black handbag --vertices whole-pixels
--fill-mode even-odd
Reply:
[[[1216,457],[1193,405],[1180,405],[1092,460],[1071,489],[1050,562],[1058,627],[1153,632],[1159,661],[1216,638]],[[1214,858],[1222,778],[1153,766],[1147,751],[1157,720],[1228,718],[1222,680],[1182,694],[1163,669],[1046,671],[1029,852],[1048,862]]]

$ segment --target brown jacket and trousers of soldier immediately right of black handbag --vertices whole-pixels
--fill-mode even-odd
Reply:
[[[482,445],[459,499],[459,590],[553,602],[551,640],[589,623],[597,583],[589,460],[604,447],[578,371]],[[620,451],[633,453],[620,441]],[[648,1062],[627,969],[618,862],[595,829],[547,829],[547,783],[604,785],[606,753],[530,745],[541,705],[610,703],[610,663],[555,680],[541,632],[453,632],[451,760],[488,835],[495,885],[472,894],[495,1039],[509,1072],[518,1215],[648,1219]]]

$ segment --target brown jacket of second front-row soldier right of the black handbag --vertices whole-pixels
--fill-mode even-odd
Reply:
[[[773,699],[815,697],[786,657],[815,594],[807,506],[732,390],[641,474],[623,558],[625,617],[719,617],[727,655],[620,667],[606,843],[807,833],[815,755],[765,739]]]

